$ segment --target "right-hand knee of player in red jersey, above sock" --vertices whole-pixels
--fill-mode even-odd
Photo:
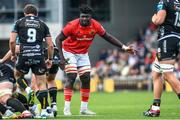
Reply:
[[[86,72],[80,76],[82,83],[81,88],[89,89],[90,88],[90,72]]]

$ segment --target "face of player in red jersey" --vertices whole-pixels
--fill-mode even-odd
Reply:
[[[84,13],[80,14],[80,24],[82,26],[90,25],[90,19],[91,19],[91,15],[90,14],[84,14]]]

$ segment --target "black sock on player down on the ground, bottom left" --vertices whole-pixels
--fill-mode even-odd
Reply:
[[[9,98],[6,104],[21,113],[26,110],[23,104],[16,98]]]

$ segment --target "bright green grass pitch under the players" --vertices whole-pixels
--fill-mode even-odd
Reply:
[[[104,119],[158,119],[172,120],[180,119],[180,101],[177,96],[172,93],[164,92],[161,102],[160,117],[144,117],[143,111],[149,108],[152,103],[152,92],[114,92],[114,93],[91,93],[89,108],[97,113],[96,116],[79,115],[80,94],[75,92],[71,102],[72,116],[63,115],[63,92],[58,92],[58,116],[56,119],[77,119],[77,120],[104,120]]]

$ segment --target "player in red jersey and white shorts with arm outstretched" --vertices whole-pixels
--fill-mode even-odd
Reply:
[[[80,18],[69,22],[56,37],[56,45],[61,58],[60,67],[61,69],[65,69],[67,74],[67,80],[64,86],[64,115],[71,115],[70,102],[77,74],[81,80],[80,114],[96,114],[88,109],[91,72],[88,48],[92,44],[96,34],[126,52],[135,54],[135,50],[132,47],[125,46],[117,38],[106,32],[102,25],[91,17],[91,14],[92,9],[87,5],[82,5],[80,7]],[[66,61],[67,59],[68,63]]]

